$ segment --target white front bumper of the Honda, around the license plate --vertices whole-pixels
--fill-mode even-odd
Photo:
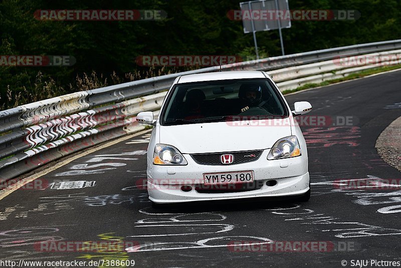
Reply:
[[[303,156],[267,160],[270,150],[265,150],[254,162],[209,166],[196,164],[189,155],[184,155],[188,162],[186,166],[152,165],[147,170],[147,188],[149,199],[154,203],[181,203],[206,200],[223,200],[253,197],[282,197],[302,195],[309,190],[308,159]],[[260,189],[243,192],[199,193],[194,189],[197,184],[203,184],[203,174],[210,172],[254,171],[254,180],[263,182]],[[266,181],[275,180],[277,184],[267,186]],[[189,192],[180,188],[182,185],[192,187]],[[169,187],[171,186],[171,187]]]

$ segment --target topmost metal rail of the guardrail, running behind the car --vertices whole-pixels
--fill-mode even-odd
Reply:
[[[367,43],[339,48],[330,48],[286,56],[271,57],[223,65],[222,70],[274,70],[334,59],[343,55],[361,55],[380,51],[401,49],[401,40]],[[46,101],[21,105],[0,112],[0,133],[33,123],[43,122],[56,116],[83,110],[105,103],[119,102],[136,96],[149,95],[169,88],[175,78],[186,74],[219,71],[219,66],[193,71],[168,74],[139,81],[77,92]],[[57,111],[57,112],[55,112]],[[36,116],[32,116],[32,114]],[[36,120],[33,121],[32,118]]]

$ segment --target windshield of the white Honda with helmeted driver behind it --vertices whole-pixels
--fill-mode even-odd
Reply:
[[[219,80],[177,84],[161,111],[161,124],[287,116],[269,79]]]

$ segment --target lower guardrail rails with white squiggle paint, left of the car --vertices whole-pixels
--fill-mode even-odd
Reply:
[[[144,129],[138,112],[160,108],[166,92],[49,120],[0,137],[0,180],[15,178],[68,154]],[[28,150],[28,151],[26,151]]]

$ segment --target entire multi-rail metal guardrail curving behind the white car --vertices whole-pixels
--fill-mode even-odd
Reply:
[[[332,61],[336,57],[399,54],[398,49],[401,40],[392,40],[228,64],[222,70],[268,71],[284,90],[374,67],[338,66]],[[219,70],[220,66],[214,66],[163,75],[0,111],[0,133],[10,131],[0,136],[0,179],[14,178],[65,155],[143,129],[132,116],[142,110],[157,110],[165,96],[165,92],[157,92],[168,89],[181,75]],[[135,98],[144,95],[148,96]],[[96,108],[104,104],[109,105]]]

